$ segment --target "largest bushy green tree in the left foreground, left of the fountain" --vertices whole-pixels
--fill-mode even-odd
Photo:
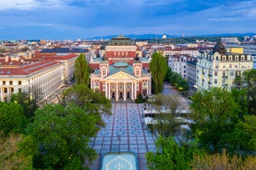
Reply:
[[[34,168],[86,169],[85,160],[91,163],[96,156],[88,145],[99,131],[95,122],[94,117],[74,105],[44,105],[35,112],[21,149],[32,154]]]

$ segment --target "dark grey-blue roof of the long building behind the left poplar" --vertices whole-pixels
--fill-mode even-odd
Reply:
[[[86,53],[88,49],[81,48],[44,48],[40,53]]]

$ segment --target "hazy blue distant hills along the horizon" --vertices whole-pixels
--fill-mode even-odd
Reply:
[[[187,35],[185,38],[188,37],[244,37],[244,36],[254,36],[256,33],[237,33],[237,34],[198,34],[198,35]],[[165,34],[166,38],[182,38],[180,35],[174,34]],[[113,37],[119,36],[118,34],[115,35],[108,35],[108,36],[96,36],[88,39],[111,39]],[[123,34],[125,37],[129,37],[131,39],[161,39],[163,34]]]

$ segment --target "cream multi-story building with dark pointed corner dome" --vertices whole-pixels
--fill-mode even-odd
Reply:
[[[235,76],[252,68],[251,55],[226,53],[226,48],[220,40],[212,53],[204,52],[198,57],[196,85],[198,90],[219,87],[230,91]]]

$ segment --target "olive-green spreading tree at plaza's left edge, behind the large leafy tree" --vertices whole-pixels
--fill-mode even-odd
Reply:
[[[94,92],[86,85],[72,85],[71,88],[63,92],[63,105],[68,103],[75,104],[82,108],[86,113],[91,114],[97,120],[97,125],[105,126],[101,115],[111,115],[112,104],[104,94]]]

